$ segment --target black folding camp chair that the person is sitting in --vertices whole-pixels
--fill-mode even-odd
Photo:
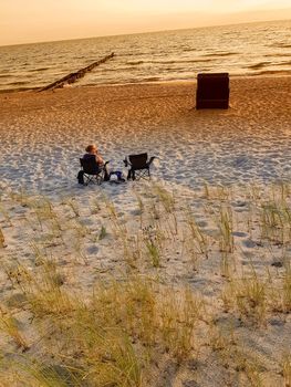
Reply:
[[[80,158],[81,171],[79,172],[79,182],[83,180],[83,184],[87,186],[90,182],[101,185],[106,176],[106,161],[104,166],[100,166],[95,157]],[[80,176],[81,175],[81,176]]]

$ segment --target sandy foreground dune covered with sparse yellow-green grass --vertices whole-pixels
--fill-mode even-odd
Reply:
[[[196,362],[197,380],[218,368],[231,386],[290,385],[285,347],[274,372],[248,343],[291,312],[289,187],[133,198],[128,215],[104,196],[1,196],[1,383],[159,387],[170,359],[177,380]]]

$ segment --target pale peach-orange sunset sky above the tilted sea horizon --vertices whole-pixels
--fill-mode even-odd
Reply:
[[[0,0],[0,45],[281,19],[290,0]]]

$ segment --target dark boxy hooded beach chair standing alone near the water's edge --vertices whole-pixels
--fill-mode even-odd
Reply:
[[[228,107],[229,74],[201,73],[197,75],[196,107]]]

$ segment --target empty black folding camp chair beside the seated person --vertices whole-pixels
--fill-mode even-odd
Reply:
[[[155,156],[147,159],[147,154],[129,155],[124,159],[126,167],[129,167],[127,180],[150,179],[150,165]]]

